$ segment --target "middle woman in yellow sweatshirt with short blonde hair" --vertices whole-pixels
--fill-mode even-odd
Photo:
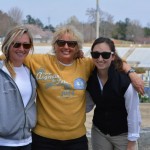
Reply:
[[[91,58],[76,59],[82,42],[73,27],[61,27],[52,40],[55,55],[34,54],[25,60],[38,84],[32,150],[88,150],[85,90],[94,64]]]

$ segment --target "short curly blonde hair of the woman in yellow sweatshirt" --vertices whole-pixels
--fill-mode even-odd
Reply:
[[[79,33],[79,31],[74,27],[74,26],[61,26],[56,29],[56,32],[53,35],[53,39],[51,41],[51,45],[53,50],[55,50],[55,43],[56,41],[64,34],[69,34],[72,36],[72,40],[77,41],[77,50],[82,49],[82,44],[83,44],[83,37]]]

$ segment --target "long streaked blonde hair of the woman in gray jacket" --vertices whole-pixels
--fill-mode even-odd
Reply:
[[[14,71],[13,64],[9,60],[9,49],[10,49],[10,46],[13,44],[14,40],[16,39],[16,37],[22,36],[24,33],[26,33],[29,36],[29,40],[30,40],[30,44],[31,44],[30,49],[34,50],[32,35],[29,32],[28,28],[26,28],[25,26],[16,26],[13,29],[11,29],[7,33],[5,39],[2,43],[2,47],[1,47],[2,53],[5,56],[5,57],[3,57],[5,66],[7,67],[8,71],[10,72],[10,75],[13,78],[15,78],[16,74],[15,74],[15,71]]]

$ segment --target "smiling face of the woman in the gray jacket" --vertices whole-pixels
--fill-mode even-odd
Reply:
[[[16,46],[15,43],[21,43],[20,46]],[[30,39],[28,34],[24,33],[22,36],[15,38],[9,49],[9,60],[13,63],[15,67],[19,67],[23,64],[25,57],[29,54],[30,47],[23,46],[23,44],[30,44]]]

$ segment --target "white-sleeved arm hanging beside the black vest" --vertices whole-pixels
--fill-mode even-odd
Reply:
[[[139,109],[139,96],[132,84],[129,85],[124,97],[128,114],[128,140],[137,141],[140,136],[141,114]]]

